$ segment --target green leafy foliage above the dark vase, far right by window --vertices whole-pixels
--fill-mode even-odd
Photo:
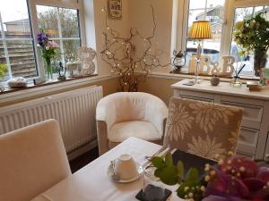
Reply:
[[[243,47],[244,51],[250,52],[256,49],[267,51],[269,48],[269,21],[265,19],[264,13],[244,21],[238,21],[234,27],[234,41]]]

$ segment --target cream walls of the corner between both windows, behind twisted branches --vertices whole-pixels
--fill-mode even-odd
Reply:
[[[128,36],[129,29],[137,28],[143,36],[147,37],[152,33],[152,13],[151,4],[154,7],[155,21],[157,23],[154,47],[160,48],[166,54],[162,63],[169,61],[171,49],[171,29],[173,0],[122,0],[123,18],[122,20],[108,19],[109,26],[121,34]],[[99,75],[110,74],[109,66],[100,58],[104,41],[102,31],[105,27],[105,14],[102,8],[107,8],[107,0],[84,0],[84,15],[86,29],[86,45],[91,46],[97,52],[97,66]],[[137,44],[142,46],[143,44]],[[153,48],[154,48],[153,47]],[[169,72],[171,67],[155,69],[154,71]]]

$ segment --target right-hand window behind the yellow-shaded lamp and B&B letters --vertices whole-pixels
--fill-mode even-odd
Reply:
[[[196,53],[197,43],[187,39],[188,29],[193,21],[206,20],[211,22],[213,38],[203,40],[202,54],[210,56],[212,63],[221,63],[222,55],[235,57],[235,68],[241,63],[246,67],[243,72],[245,76],[254,76],[253,55],[239,56],[240,47],[232,41],[233,26],[237,21],[255,15],[260,12],[267,12],[269,17],[269,4],[265,0],[181,0],[184,2],[183,10],[179,13],[178,19],[183,19],[182,28],[178,29],[178,50],[187,51],[187,65],[192,54]],[[267,64],[268,65],[268,64]],[[185,69],[187,71],[187,68]]]

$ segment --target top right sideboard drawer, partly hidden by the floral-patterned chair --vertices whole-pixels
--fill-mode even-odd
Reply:
[[[221,100],[222,105],[231,105],[244,108],[243,126],[248,128],[260,128],[260,123],[263,119],[264,107],[260,105],[247,105],[244,103],[236,103]]]

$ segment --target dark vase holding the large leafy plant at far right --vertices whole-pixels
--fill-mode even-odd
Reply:
[[[260,76],[260,72],[263,68],[265,68],[265,65],[267,63],[267,50],[256,48],[254,51],[254,70],[255,75]]]

